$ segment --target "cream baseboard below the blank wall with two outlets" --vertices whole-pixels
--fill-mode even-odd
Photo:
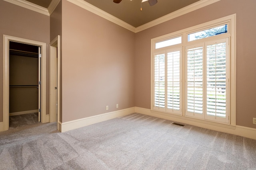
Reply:
[[[92,125],[94,123],[99,123],[99,122],[113,119],[116,117],[128,115],[128,114],[131,114],[134,112],[135,112],[135,107],[131,107],[128,109],[122,109],[122,110],[118,110],[118,111],[113,111],[113,112],[109,112],[109,113],[91,116],[91,117],[85,117],[83,119],[77,119],[77,120],[68,121],[68,122],[64,122],[64,123],[59,122],[58,130],[60,132],[66,132],[66,131],[77,129],[80,127]]]

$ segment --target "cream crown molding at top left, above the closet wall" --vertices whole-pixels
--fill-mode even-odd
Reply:
[[[35,11],[35,12],[38,12],[38,13],[41,13],[41,14],[44,14],[46,16],[50,16],[47,8],[44,8],[42,6],[33,4],[33,3],[25,1],[25,0],[4,0],[4,1],[10,2],[12,4],[21,6],[23,8],[27,8],[29,10],[32,10],[32,11]]]

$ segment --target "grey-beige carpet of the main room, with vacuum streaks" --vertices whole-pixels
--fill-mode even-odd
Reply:
[[[256,170],[256,140],[133,113],[65,133],[0,133],[0,169]]]

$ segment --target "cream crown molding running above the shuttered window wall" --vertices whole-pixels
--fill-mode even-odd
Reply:
[[[208,5],[218,2],[218,1],[220,1],[220,0],[200,0],[198,2],[195,2],[194,4],[191,4],[189,6],[181,8],[180,10],[177,10],[175,12],[172,12],[170,14],[162,16],[156,20],[145,23],[144,25],[136,27],[135,33],[143,31],[144,29],[148,29],[150,27],[153,27],[153,26],[163,23],[165,21],[172,20],[174,18],[177,18],[177,17],[187,14],[189,12],[198,10],[200,8],[203,8],[204,6],[208,6]]]

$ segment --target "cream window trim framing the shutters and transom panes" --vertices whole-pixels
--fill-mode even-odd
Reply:
[[[230,123],[221,123],[221,122],[214,122],[214,121],[210,121],[210,120],[200,120],[203,122],[211,122],[213,124],[225,124],[225,125],[236,125],[236,14],[230,15],[230,16],[226,16],[223,18],[219,18],[217,20],[213,20],[213,21],[209,21],[206,23],[202,23],[200,25],[196,25],[193,27],[189,27],[186,29],[182,29],[180,31],[176,31],[174,33],[169,33],[167,35],[162,35],[160,37],[156,37],[151,39],[151,112],[158,112],[158,113],[162,113],[162,114],[166,114],[167,112],[164,111],[156,111],[153,109],[154,106],[154,85],[153,85],[153,80],[154,80],[154,72],[153,72],[153,64],[154,64],[154,53],[158,52],[158,51],[163,51],[166,49],[170,49],[169,47],[163,47],[163,48],[159,48],[159,49],[155,49],[155,43],[160,42],[160,41],[165,41],[167,39],[171,39],[171,38],[175,38],[175,37],[179,37],[182,36],[182,44],[178,44],[178,45],[173,45],[171,46],[172,48],[176,48],[176,47],[181,47],[182,46],[182,59],[184,59],[184,55],[185,55],[185,47],[188,45],[192,45],[195,43],[199,43],[200,41],[205,41],[204,39],[199,39],[199,40],[194,40],[194,41],[187,41],[187,36],[190,33],[196,32],[196,31],[200,31],[200,30],[205,30],[207,28],[210,28],[212,26],[216,26],[216,25],[221,25],[223,23],[228,23],[228,33],[220,34],[220,35],[216,35],[218,36],[218,39],[224,38],[227,36],[227,34],[229,34],[230,38]],[[211,39],[211,37],[208,37],[208,39]],[[182,68],[186,68],[185,66],[185,62],[182,62]],[[181,82],[183,83],[183,79],[185,78],[185,72],[184,69],[182,69],[182,78],[181,78]],[[172,114],[172,113],[168,113],[168,115],[172,115],[172,116],[178,116],[180,118],[184,118],[184,119],[188,119],[188,117],[185,116],[185,103],[186,103],[186,99],[185,99],[185,93],[186,92],[186,86],[182,85],[182,100],[181,100],[181,106],[182,106],[182,115],[177,115],[177,114]],[[195,121],[199,121],[196,120],[196,118],[192,118]],[[190,119],[191,120],[191,119]]]

